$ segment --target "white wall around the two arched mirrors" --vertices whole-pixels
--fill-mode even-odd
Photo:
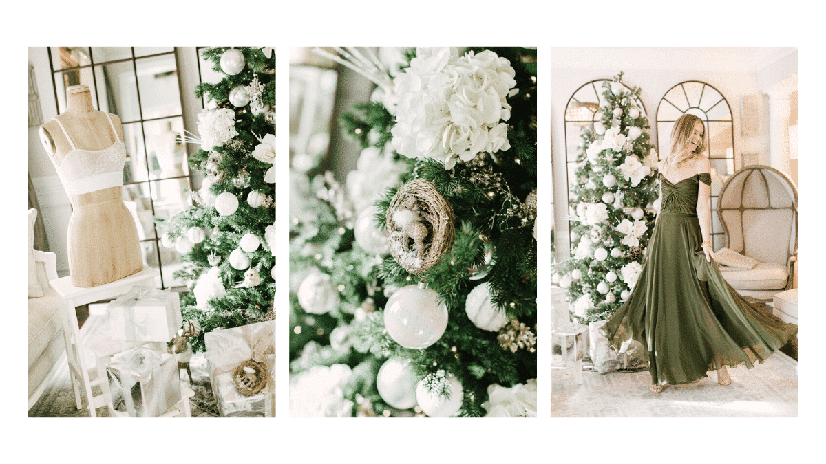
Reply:
[[[652,143],[657,146],[655,122],[662,96],[677,83],[688,80],[709,83],[723,94],[731,107],[736,169],[740,168],[742,153],[757,153],[760,163],[769,164],[767,124],[762,124],[760,135],[740,136],[740,97],[759,95],[772,83],[790,74],[791,69],[796,73],[794,49],[553,48],[550,60],[551,72],[546,82],[551,93],[554,224],[558,261],[567,259],[568,249],[563,115],[568,100],[582,84],[595,79],[610,79],[622,71],[626,85],[642,89],[640,99],[652,126]],[[767,104],[763,105],[762,112],[767,114]]]

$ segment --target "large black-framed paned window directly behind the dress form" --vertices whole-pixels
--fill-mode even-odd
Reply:
[[[159,246],[154,217],[166,218],[191,204],[187,147],[182,143],[183,104],[174,47],[49,47],[58,113],[66,88],[86,84],[97,110],[121,119],[126,144],[123,194],[135,218],[141,253],[159,270],[159,288],[183,286],[174,249]]]

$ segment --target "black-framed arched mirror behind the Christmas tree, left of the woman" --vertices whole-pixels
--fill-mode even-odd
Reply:
[[[572,182],[577,182],[577,166],[584,159],[584,140],[582,131],[587,127],[592,127],[595,121],[599,121],[596,116],[600,107],[605,105],[605,98],[602,93],[605,88],[603,83],[610,83],[611,79],[596,79],[583,84],[573,92],[565,107],[565,160],[566,160],[566,180],[568,185],[567,207],[576,206],[577,197],[571,192]],[[623,87],[630,93],[631,89],[623,84]],[[643,116],[647,116],[643,102],[638,97],[634,97],[637,106],[643,111]],[[576,247],[577,240],[571,238],[572,249]]]

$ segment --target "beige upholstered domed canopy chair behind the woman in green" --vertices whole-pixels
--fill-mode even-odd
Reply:
[[[768,166],[740,169],[725,182],[717,205],[727,247],[757,260],[751,269],[721,267],[741,295],[768,302],[796,286],[797,190]]]

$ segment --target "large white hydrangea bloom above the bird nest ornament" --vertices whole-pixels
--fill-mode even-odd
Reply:
[[[481,152],[510,149],[507,125],[515,95],[510,61],[490,50],[419,49],[395,83],[392,144],[408,158],[434,158],[446,169]]]

